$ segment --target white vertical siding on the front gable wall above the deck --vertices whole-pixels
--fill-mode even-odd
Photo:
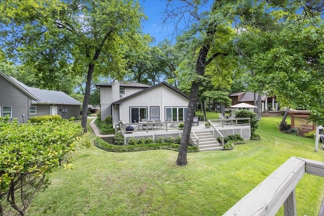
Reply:
[[[159,116],[161,120],[165,120],[165,107],[188,107],[189,99],[178,94],[174,90],[160,85],[157,88],[138,94],[128,100],[123,101],[119,105],[119,118],[125,123],[130,123],[131,107],[146,107],[147,117],[150,116],[150,107],[159,107]]]

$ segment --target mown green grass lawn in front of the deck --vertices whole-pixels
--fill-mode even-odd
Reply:
[[[278,132],[280,119],[262,118],[262,140],[189,153],[184,167],[170,150],[82,149],[73,170],[51,174],[28,215],[222,215],[291,156],[324,160],[313,140]],[[318,215],[323,195],[324,179],[305,175],[296,189],[298,215]]]

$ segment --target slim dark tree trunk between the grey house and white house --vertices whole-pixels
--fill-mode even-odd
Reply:
[[[85,97],[83,99],[83,105],[82,105],[81,126],[83,127],[84,133],[87,133],[88,105],[89,105],[91,81],[92,81],[92,75],[93,75],[94,69],[95,69],[95,65],[89,64],[87,82],[86,82],[86,93],[85,93]]]

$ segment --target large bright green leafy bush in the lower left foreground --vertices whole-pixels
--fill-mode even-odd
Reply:
[[[82,127],[73,122],[55,116],[35,119],[35,124],[20,124],[16,119],[10,123],[8,118],[0,117],[1,206],[12,202],[20,210],[27,208],[26,201],[43,188],[46,175],[62,164],[72,167],[73,153],[81,145],[89,146]],[[11,209],[6,211],[11,215]]]

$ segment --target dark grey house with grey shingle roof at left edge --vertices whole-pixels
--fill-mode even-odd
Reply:
[[[0,71],[0,114],[26,122],[33,116],[78,117],[80,103],[63,92],[28,87]]]

